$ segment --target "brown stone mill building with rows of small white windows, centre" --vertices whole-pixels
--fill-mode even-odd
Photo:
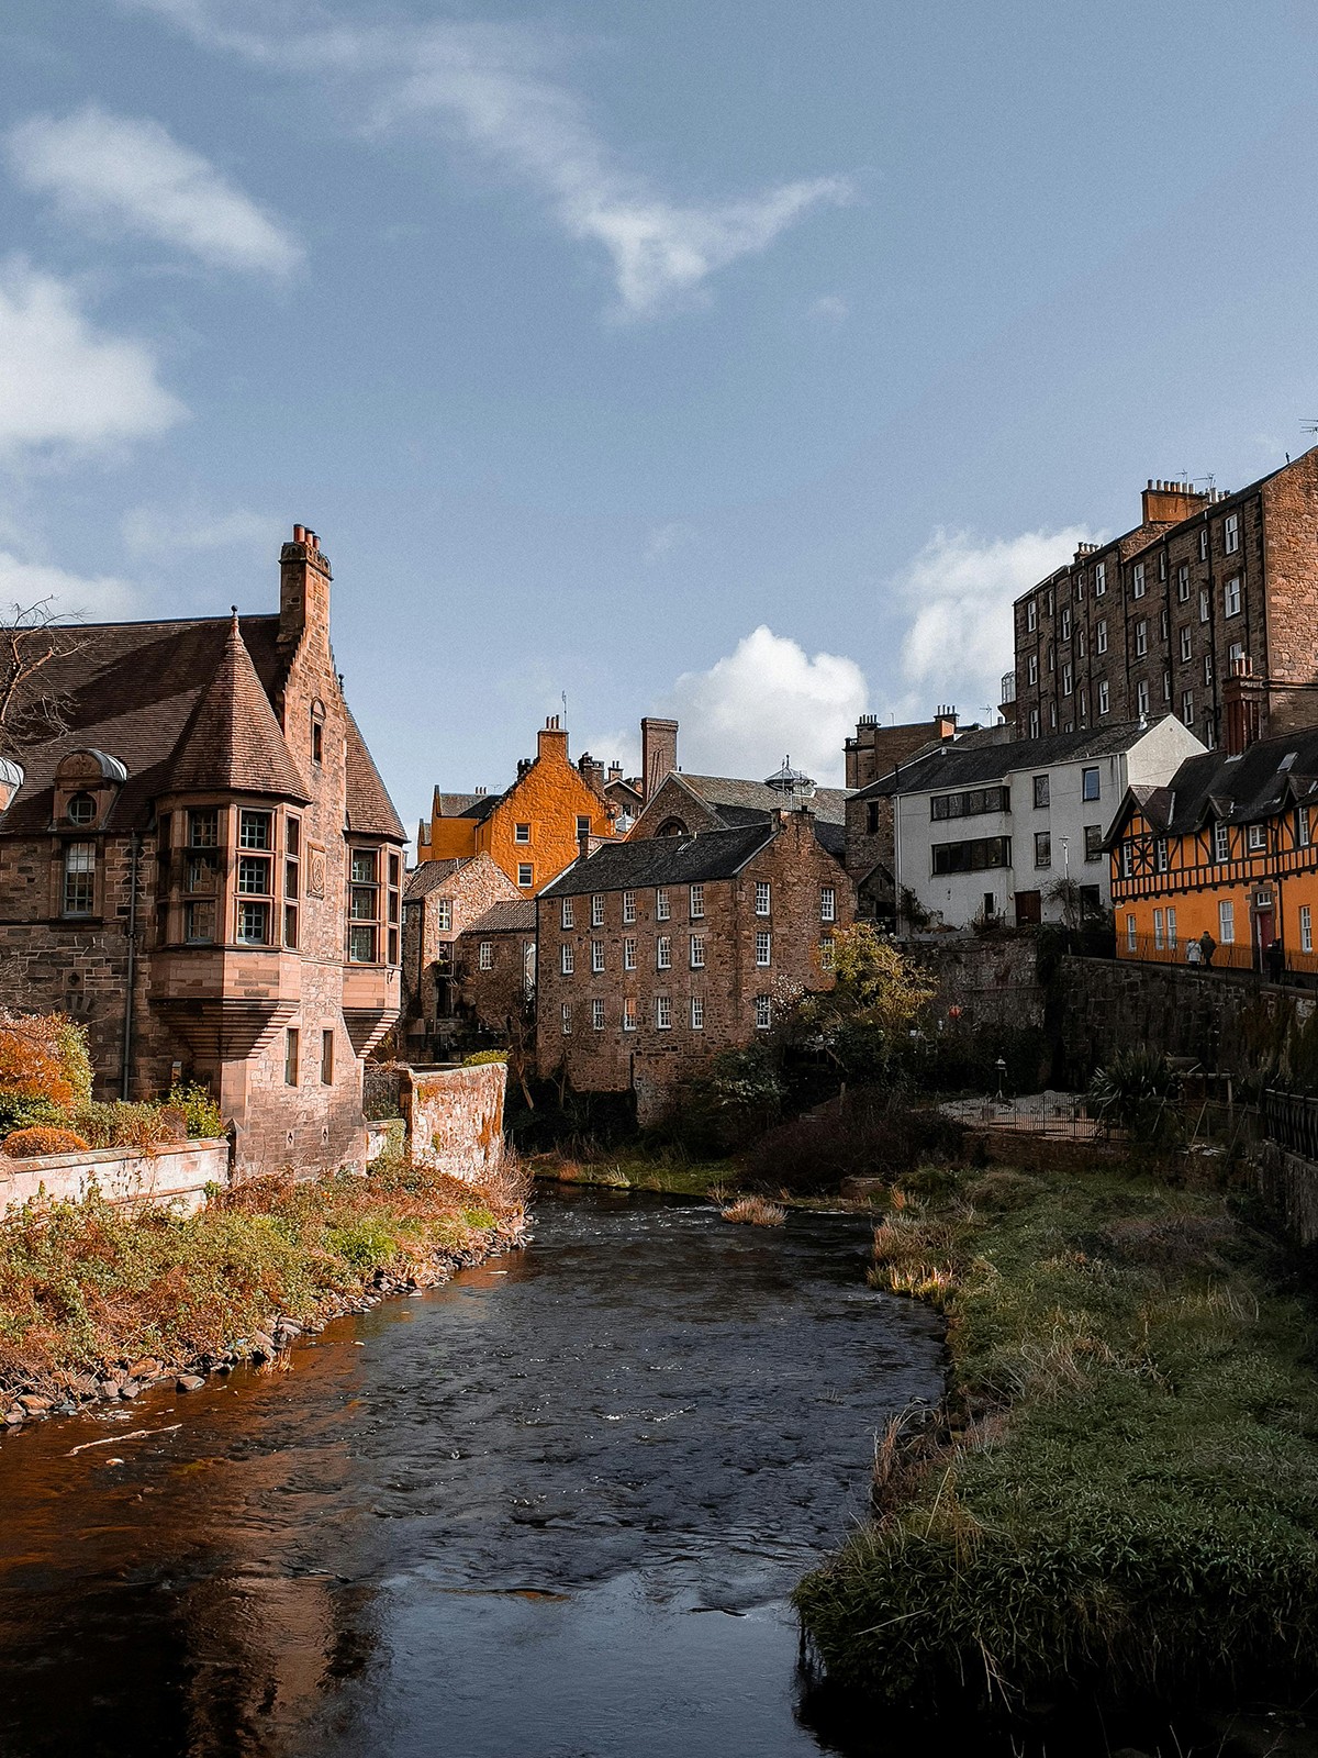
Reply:
[[[629,837],[536,902],[536,1060],[578,1092],[633,1092],[655,1122],[675,1085],[831,984],[851,886],[808,803],[740,828]]]

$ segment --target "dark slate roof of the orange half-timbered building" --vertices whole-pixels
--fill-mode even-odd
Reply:
[[[1186,758],[1165,788],[1126,791],[1109,837],[1139,805],[1156,830],[1188,835],[1206,823],[1251,825],[1318,793],[1318,728],[1262,738],[1241,756],[1209,751]]]

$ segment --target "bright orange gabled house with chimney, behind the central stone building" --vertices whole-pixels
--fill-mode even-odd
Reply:
[[[605,766],[568,759],[559,716],[545,721],[534,758],[517,765],[504,793],[434,789],[429,826],[416,837],[416,861],[489,854],[524,897],[534,897],[580,854],[580,839],[612,837],[617,809],[605,798]]]

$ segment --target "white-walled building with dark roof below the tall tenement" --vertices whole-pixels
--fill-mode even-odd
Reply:
[[[930,925],[1061,921],[1109,909],[1107,826],[1126,788],[1165,786],[1204,745],[1174,716],[1010,744],[947,744],[865,789],[893,800],[896,897]],[[1070,883],[1070,884],[1067,884]],[[909,911],[902,911],[909,916]]]

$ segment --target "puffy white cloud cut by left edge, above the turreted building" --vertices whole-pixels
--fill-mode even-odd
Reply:
[[[186,410],[144,343],[97,331],[65,281],[21,260],[0,269],[0,454],[141,440]]]

